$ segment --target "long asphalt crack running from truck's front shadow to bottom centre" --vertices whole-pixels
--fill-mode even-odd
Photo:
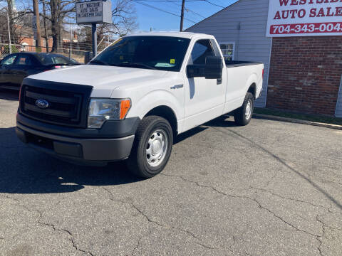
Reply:
[[[210,250],[220,249],[220,248],[211,247],[209,245],[205,245],[201,240],[199,240],[199,238],[197,238],[197,236],[194,233],[190,232],[189,230],[184,230],[184,229],[179,228],[179,227],[173,227],[172,225],[163,225],[163,224],[161,224],[161,223],[159,223],[159,222],[157,222],[155,220],[152,220],[146,213],[144,213],[140,208],[138,208],[138,206],[135,206],[134,203],[128,202],[128,201],[123,201],[123,200],[120,200],[120,199],[117,199],[117,198],[113,198],[113,193],[111,193],[111,191],[108,188],[105,188],[105,187],[102,187],[102,188],[103,188],[103,190],[107,191],[110,194],[110,200],[118,201],[118,202],[123,203],[123,204],[128,204],[131,208],[135,209],[140,215],[142,215],[147,220],[147,222],[154,223],[155,225],[159,225],[162,228],[172,228],[172,229],[175,229],[175,230],[180,230],[183,233],[187,233],[192,238],[195,238],[198,241],[198,242],[196,242],[197,245],[200,245],[200,246],[202,246],[204,248],[207,248],[207,249],[210,249]],[[229,250],[229,248],[224,248],[224,249],[228,249]]]

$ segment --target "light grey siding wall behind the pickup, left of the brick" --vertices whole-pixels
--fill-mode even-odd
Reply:
[[[234,42],[234,60],[264,63],[264,93],[257,100],[257,107],[266,106],[271,55],[271,38],[266,38],[268,11],[269,0],[239,0],[186,30],[214,35],[219,43]]]

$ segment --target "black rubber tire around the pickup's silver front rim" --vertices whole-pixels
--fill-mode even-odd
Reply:
[[[165,139],[165,145],[167,145],[167,147],[164,151],[165,154],[162,154],[162,159],[157,160],[160,162],[158,164],[157,161],[155,162],[157,166],[151,166],[147,161],[147,147],[150,147],[149,140],[152,139],[152,135],[155,134],[155,132],[158,134],[158,131],[162,132],[162,137],[167,137],[167,139]],[[173,132],[170,123],[167,122],[166,119],[158,116],[144,117],[135,133],[133,148],[126,161],[128,169],[130,169],[134,175],[142,178],[151,178],[160,174],[165,168],[167,161],[170,159],[172,144]]]

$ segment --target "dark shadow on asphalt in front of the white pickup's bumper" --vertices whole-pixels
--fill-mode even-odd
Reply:
[[[142,181],[123,162],[76,166],[35,151],[17,139],[15,127],[0,128],[0,174],[0,193],[68,193]]]

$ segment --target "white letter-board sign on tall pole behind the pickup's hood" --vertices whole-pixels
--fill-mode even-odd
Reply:
[[[77,2],[76,23],[112,23],[112,2],[110,0]]]

